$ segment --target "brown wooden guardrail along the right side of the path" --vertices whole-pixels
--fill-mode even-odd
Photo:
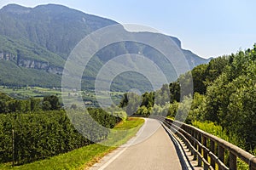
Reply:
[[[165,117],[158,119],[183,140],[193,154],[194,160],[198,161],[199,167],[207,170],[216,169],[218,165],[219,170],[236,170],[237,157],[239,157],[247,163],[249,170],[256,170],[256,157],[236,145],[183,122],[172,121]]]

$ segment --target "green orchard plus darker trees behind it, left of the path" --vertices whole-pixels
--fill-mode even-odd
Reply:
[[[56,96],[45,96],[41,101],[16,100],[0,94],[0,105],[0,162],[12,161],[13,130],[15,162],[23,164],[93,143],[81,134],[82,130],[91,130],[93,141],[106,139],[108,128],[113,128],[121,120],[102,109],[89,109],[88,113],[84,113],[73,108],[70,109],[73,119],[79,119],[80,125],[83,125],[82,129],[76,129],[66,111],[60,110],[61,105]],[[91,121],[107,127],[107,130],[98,132]]]

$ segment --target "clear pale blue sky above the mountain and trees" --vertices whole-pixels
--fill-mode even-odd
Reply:
[[[57,3],[116,20],[150,26],[178,37],[204,58],[236,53],[256,42],[254,0],[1,0],[27,7]]]

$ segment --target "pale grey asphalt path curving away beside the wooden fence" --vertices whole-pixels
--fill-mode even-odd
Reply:
[[[102,158],[90,170],[182,169],[172,139],[160,122],[146,119],[137,136]]]

